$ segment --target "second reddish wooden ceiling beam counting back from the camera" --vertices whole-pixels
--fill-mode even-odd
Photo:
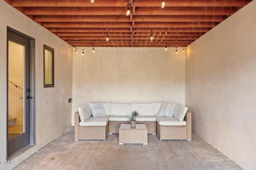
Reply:
[[[18,7],[20,8],[20,7]],[[119,16],[127,7],[24,7],[25,15],[78,15],[78,16]],[[131,9],[132,10],[132,9]],[[140,16],[144,15],[232,15],[236,7],[136,7]],[[125,15],[123,12],[122,15]]]

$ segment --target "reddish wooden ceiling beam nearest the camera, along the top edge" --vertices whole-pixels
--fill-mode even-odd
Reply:
[[[4,0],[9,2],[11,0]],[[12,0],[14,7],[47,7],[47,6],[58,6],[58,7],[111,7],[111,6],[126,6],[127,2],[122,0],[95,0],[92,4],[89,0]],[[165,6],[245,6],[248,4],[247,0],[171,0],[166,1]],[[161,5],[160,0],[140,0],[132,3],[133,6],[147,6],[147,7],[158,7]]]

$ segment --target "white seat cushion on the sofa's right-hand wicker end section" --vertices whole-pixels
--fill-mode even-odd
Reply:
[[[187,125],[186,121],[179,121],[175,117],[156,117],[156,121],[159,125],[162,126],[185,126]]]

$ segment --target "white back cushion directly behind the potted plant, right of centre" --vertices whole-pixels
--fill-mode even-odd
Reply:
[[[131,113],[136,110],[139,112],[139,115],[155,115],[155,104],[131,104]]]

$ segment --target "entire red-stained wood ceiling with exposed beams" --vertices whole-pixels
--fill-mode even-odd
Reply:
[[[76,47],[186,47],[252,0],[4,1]]]

